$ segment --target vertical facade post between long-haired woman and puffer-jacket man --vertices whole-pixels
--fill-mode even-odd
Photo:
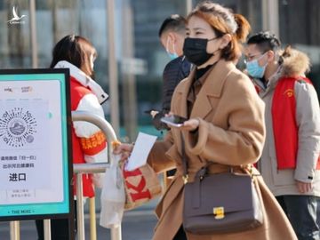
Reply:
[[[115,2],[107,0],[108,16],[108,80],[111,108],[111,124],[116,133],[119,133],[119,97],[117,81],[117,64],[116,64],[116,43],[115,43]]]

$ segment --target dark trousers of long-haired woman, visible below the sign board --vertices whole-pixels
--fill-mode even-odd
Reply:
[[[75,201],[76,211],[76,201]],[[52,240],[70,240],[69,236],[69,220],[51,220],[51,233]],[[75,212],[75,228],[76,228],[76,212]],[[38,234],[38,240],[44,240],[44,220],[36,220],[36,232]],[[76,236],[76,229],[75,229]]]

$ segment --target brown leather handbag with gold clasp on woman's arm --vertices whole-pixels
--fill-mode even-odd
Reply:
[[[182,140],[182,145],[184,142]],[[183,228],[193,234],[223,234],[257,228],[263,223],[260,198],[254,176],[229,172],[208,173],[208,165],[188,180],[184,146],[182,162],[185,176]]]

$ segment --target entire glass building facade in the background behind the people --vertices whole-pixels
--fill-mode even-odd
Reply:
[[[184,0],[114,0],[116,61],[118,66],[120,124],[131,139],[140,127],[149,126],[148,109],[160,109],[162,71],[169,57],[158,39],[162,21],[173,13],[186,15]],[[197,2],[194,0],[193,4]],[[217,0],[243,14],[252,32],[262,29],[260,0]],[[320,82],[320,20],[318,0],[278,0],[280,38],[308,52],[313,68],[310,76]],[[23,23],[11,24],[13,7]],[[47,68],[53,45],[63,36],[89,38],[97,48],[96,80],[108,92],[108,0],[36,0],[38,67]],[[32,68],[29,1],[0,1],[0,68]],[[272,16],[269,16],[272,17]],[[112,95],[112,92],[110,92]],[[109,119],[109,106],[104,106]],[[132,125],[133,124],[133,125]],[[129,129],[133,129],[133,131]],[[147,132],[156,132],[149,127]]]

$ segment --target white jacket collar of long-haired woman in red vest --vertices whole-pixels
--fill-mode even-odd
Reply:
[[[73,76],[79,84],[85,87],[89,87],[94,95],[97,96],[100,104],[108,100],[108,94],[103,91],[100,84],[97,84],[90,76],[87,76],[81,69],[76,68],[75,65],[69,63],[66,60],[60,60],[54,68],[68,68],[70,70],[70,76]]]

